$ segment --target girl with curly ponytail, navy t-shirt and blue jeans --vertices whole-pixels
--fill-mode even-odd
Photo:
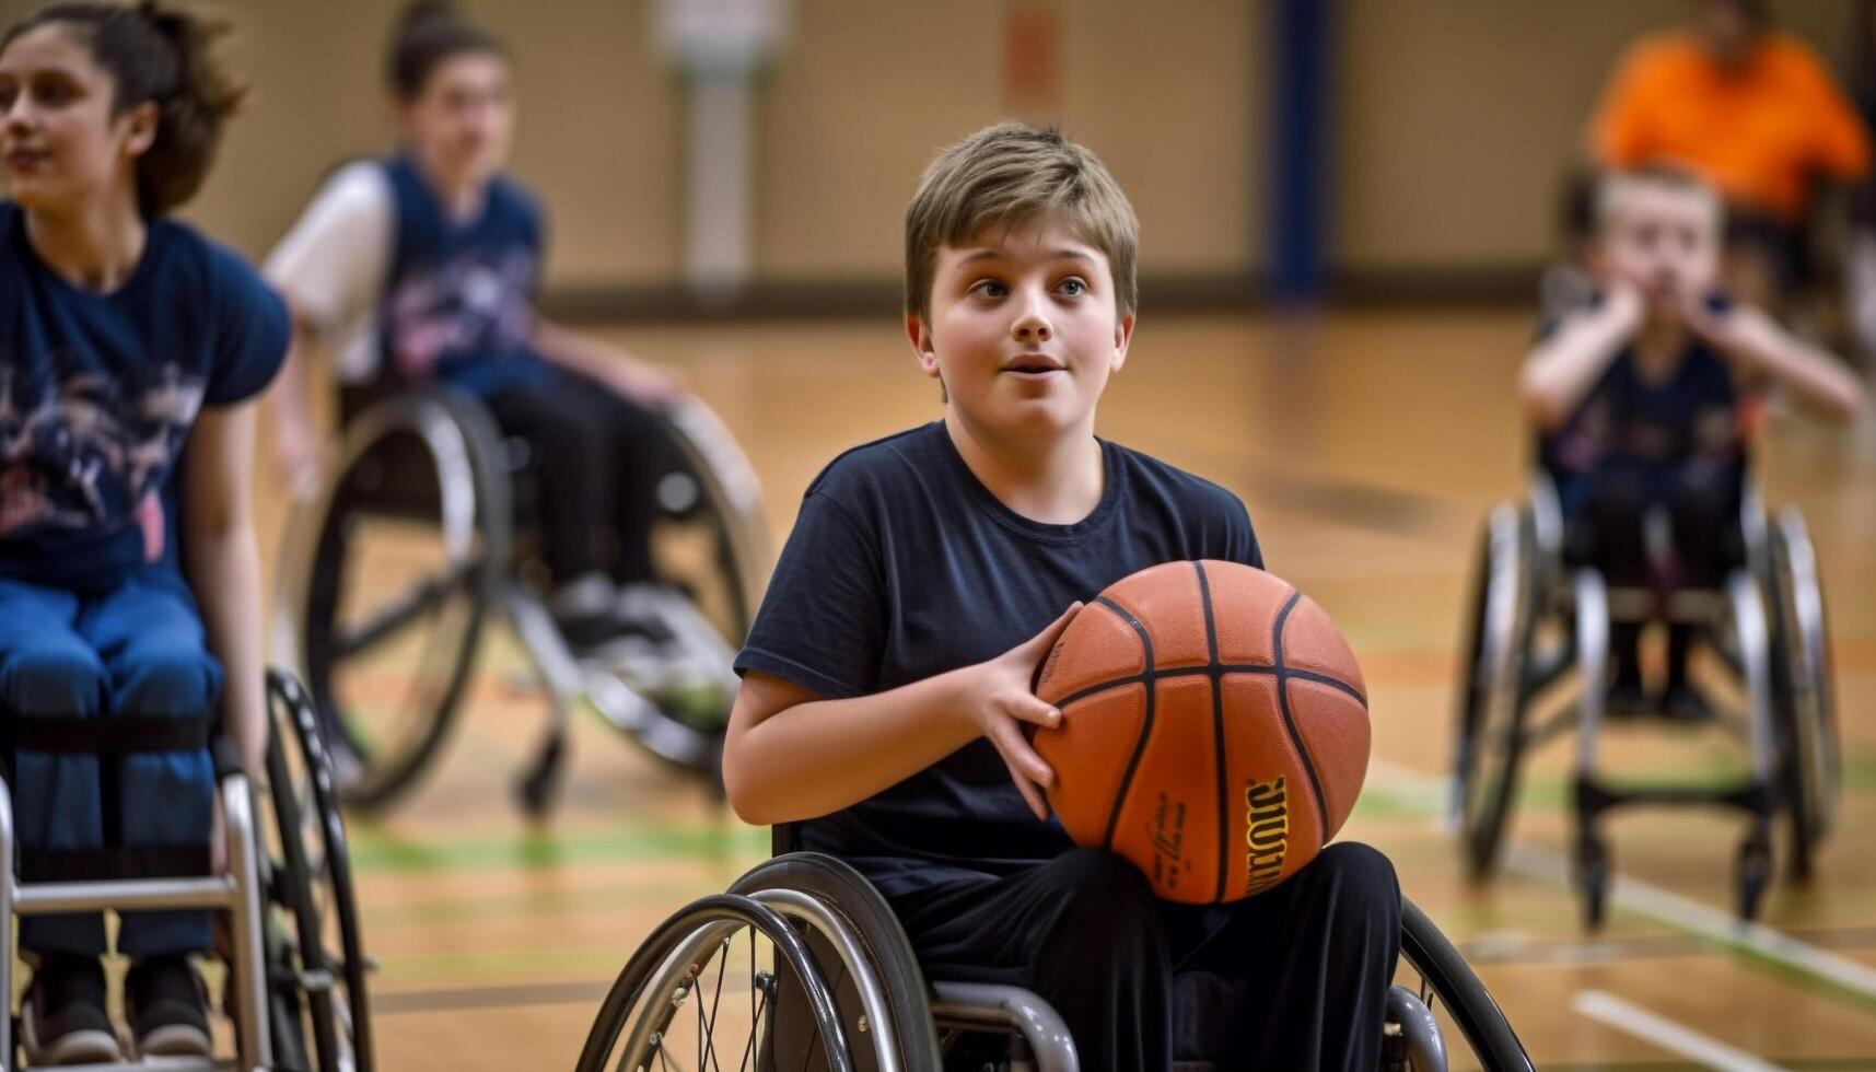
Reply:
[[[62,4],[0,38],[0,717],[219,710],[259,770],[250,400],[285,355],[287,310],[167,218],[240,98],[208,54],[214,32],[152,4]],[[204,749],[21,749],[9,790],[26,858],[212,843]],[[19,939],[36,963],[32,1063],[116,1061],[103,920],[34,916]],[[189,963],[210,946],[206,912],[124,916],[139,1053],[210,1053]]]

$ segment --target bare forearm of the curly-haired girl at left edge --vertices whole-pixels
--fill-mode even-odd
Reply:
[[[266,760],[266,683],[261,651],[261,552],[251,524],[189,537],[189,576],[208,650],[221,663],[221,721],[242,766]]]

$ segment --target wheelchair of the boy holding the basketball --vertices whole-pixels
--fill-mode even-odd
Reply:
[[[899,920],[857,871],[792,849],[794,830],[775,828],[771,860],[645,939],[608,991],[578,1072],[728,1063],[764,1072],[1079,1070],[1075,1040],[1047,1001],[1009,986],[927,982]],[[1381,1066],[1533,1068],[1478,976],[1405,899]]]

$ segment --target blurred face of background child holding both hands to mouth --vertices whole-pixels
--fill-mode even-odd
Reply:
[[[1718,210],[1702,191],[1634,182],[1602,225],[1600,259],[1604,272],[1634,283],[1651,306],[1685,306],[1718,280]]]

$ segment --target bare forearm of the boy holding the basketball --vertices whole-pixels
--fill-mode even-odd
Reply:
[[[951,670],[889,693],[795,704],[741,732],[732,723],[724,749],[730,804],[747,822],[795,822],[912,777],[977,736],[959,713],[966,674]]]

